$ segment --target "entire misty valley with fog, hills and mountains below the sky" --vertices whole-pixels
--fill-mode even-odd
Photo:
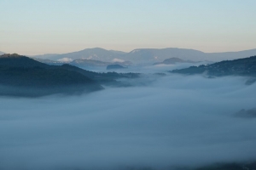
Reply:
[[[0,169],[256,169],[254,54],[3,53]]]

